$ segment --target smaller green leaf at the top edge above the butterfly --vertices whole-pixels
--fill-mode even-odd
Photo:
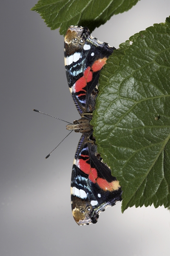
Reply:
[[[128,11],[138,0],[39,0],[31,9],[38,12],[51,29],[60,27],[65,35],[71,25],[88,26],[92,32],[112,15]]]

